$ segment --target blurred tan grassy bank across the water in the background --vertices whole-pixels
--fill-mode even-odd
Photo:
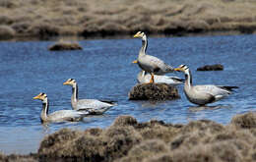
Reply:
[[[1,0],[0,38],[255,33],[254,0]]]

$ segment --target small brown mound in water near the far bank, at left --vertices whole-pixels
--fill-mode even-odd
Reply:
[[[77,42],[57,42],[48,48],[50,51],[62,50],[82,50],[83,48]]]

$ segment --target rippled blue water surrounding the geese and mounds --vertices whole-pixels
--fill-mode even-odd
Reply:
[[[178,87],[181,99],[150,103],[130,101],[128,92],[140,69],[131,62],[141,48],[140,39],[82,40],[81,51],[51,52],[53,41],[0,42],[0,151],[36,152],[44,135],[62,128],[106,128],[117,116],[131,115],[138,121],[188,123],[199,119],[227,124],[236,114],[254,111],[256,105],[256,35],[149,38],[148,54],[177,67],[189,66],[194,84],[214,83],[240,88],[209,108],[195,108]],[[223,64],[224,71],[197,72],[206,64]],[[170,74],[184,78],[183,74]],[[41,125],[41,102],[32,100],[47,93],[49,111],[71,109],[69,78],[79,84],[80,98],[110,99],[118,106],[103,116],[80,123]]]

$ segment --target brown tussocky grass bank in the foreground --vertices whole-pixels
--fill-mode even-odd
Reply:
[[[256,112],[237,115],[226,126],[208,120],[138,123],[120,116],[103,130],[63,129],[45,136],[37,153],[0,154],[0,161],[253,162]]]

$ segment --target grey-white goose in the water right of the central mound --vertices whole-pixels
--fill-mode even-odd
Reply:
[[[185,74],[184,92],[186,97],[190,102],[198,105],[206,105],[219,101],[229,95],[232,88],[238,88],[237,86],[214,84],[193,85],[191,72],[186,65],[180,65],[178,68],[175,68],[174,71],[183,72]]]

